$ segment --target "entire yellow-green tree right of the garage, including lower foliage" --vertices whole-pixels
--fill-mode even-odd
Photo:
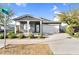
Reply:
[[[70,35],[79,32],[79,9],[68,10],[58,14],[60,21],[66,23],[66,32]],[[75,32],[76,31],[76,32]]]

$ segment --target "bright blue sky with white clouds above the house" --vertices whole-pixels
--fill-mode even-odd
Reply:
[[[30,14],[36,17],[43,17],[49,20],[60,12],[73,8],[78,8],[77,3],[0,3],[1,6],[9,7],[13,10],[14,16],[18,17]]]

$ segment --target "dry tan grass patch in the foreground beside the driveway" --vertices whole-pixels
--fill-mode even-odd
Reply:
[[[47,44],[9,44],[5,49],[0,48],[3,55],[51,55],[53,54]]]

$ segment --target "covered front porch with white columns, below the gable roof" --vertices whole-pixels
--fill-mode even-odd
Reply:
[[[34,20],[27,20],[27,21],[19,21],[19,25],[15,26],[15,34],[19,31],[20,33],[29,34],[31,33],[41,33],[43,34],[43,25],[42,20],[34,21]]]

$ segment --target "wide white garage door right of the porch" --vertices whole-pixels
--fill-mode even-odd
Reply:
[[[43,24],[43,34],[59,33],[59,24]]]

